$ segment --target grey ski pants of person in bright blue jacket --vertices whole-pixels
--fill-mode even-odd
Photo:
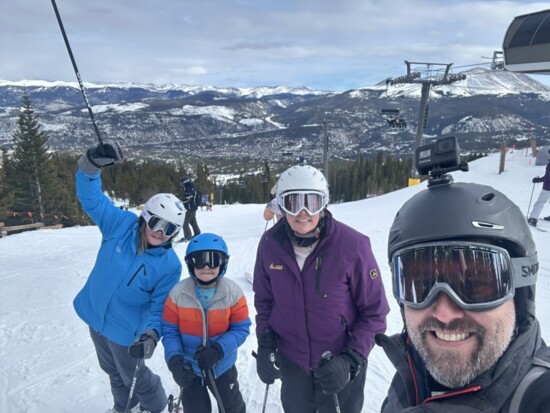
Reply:
[[[130,407],[140,403],[140,408],[150,412],[162,412],[168,399],[162,387],[160,377],[154,374],[143,362],[128,355],[128,347],[113,343],[108,338],[99,335],[90,328],[90,336],[94,342],[97,359],[101,369],[109,375],[114,408],[119,412],[126,411],[126,403],[130,395],[130,387],[139,363],[136,387]]]

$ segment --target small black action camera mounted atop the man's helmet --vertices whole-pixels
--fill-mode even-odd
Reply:
[[[454,136],[440,138],[416,148],[415,165],[420,175],[430,176],[429,187],[453,182],[449,172],[469,170],[468,163],[460,160],[460,150]]]

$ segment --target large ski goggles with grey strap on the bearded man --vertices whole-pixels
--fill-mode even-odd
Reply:
[[[488,244],[419,244],[394,254],[393,294],[419,309],[430,306],[441,291],[466,310],[494,308],[514,296],[519,287],[514,273],[523,274],[533,258],[536,262],[536,256],[512,259],[505,249]]]

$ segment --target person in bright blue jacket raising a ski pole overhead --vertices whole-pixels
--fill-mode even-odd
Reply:
[[[92,272],[73,304],[90,328],[101,369],[109,375],[114,398],[109,412],[131,408],[155,413],[165,409],[166,392],[144,359],[152,356],[161,336],[164,301],[181,275],[172,240],[185,211],[172,194],[153,196],[139,217],[113,205],[101,189],[100,168],[121,160],[118,147],[101,144],[78,161],[78,198],[102,240]]]

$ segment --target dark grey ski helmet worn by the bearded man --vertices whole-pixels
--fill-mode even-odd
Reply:
[[[442,240],[483,240],[505,248],[511,258],[528,258],[525,274],[514,274],[518,324],[535,317],[538,258],[526,219],[508,197],[474,183],[435,185],[409,199],[390,228],[388,258],[405,247]],[[391,265],[390,265],[391,267]]]

